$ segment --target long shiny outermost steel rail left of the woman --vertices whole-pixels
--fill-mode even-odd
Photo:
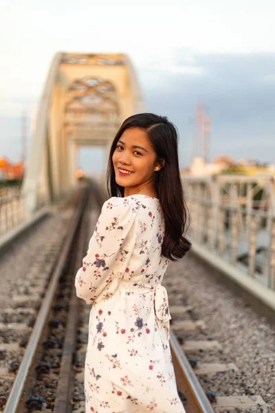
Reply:
[[[45,298],[43,299],[43,303],[39,310],[39,314],[36,318],[36,322],[34,324],[32,334],[28,341],[28,346],[26,347],[24,357],[21,361],[19,370],[17,372],[17,377],[14,381],[12,390],[9,394],[7,404],[5,405],[4,413],[17,413],[18,412],[18,407],[21,401],[21,396],[23,395],[24,386],[27,381],[30,368],[32,367],[32,361],[34,359],[36,349],[39,346],[39,341],[41,339],[43,329],[45,328],[47,316],[50,313],[50,308],[52,306],[52,301],[56,293],[58,280],[61,277],[61,274],[63,272],[63,268],[67,261],[67,255],[69,253],[69,249],[74,239],[74,234],[78,227],[81,214],[83,213],[83,198],[84,197],[85,197],[85,193],[82,193],[78,208],[76,209],[76,212],[74,213],[72,217],[71,223],[69,224],[69,231],[66,236],[65,245],[58,259],[58,262],[56,264],[54,273],[52,274],[52,279],[47,288],[47,292],[45,294]]]

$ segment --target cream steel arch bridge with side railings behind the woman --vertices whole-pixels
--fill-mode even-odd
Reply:
[[[144,100],[128,56],[58,52],[41,97],[23,189],[1,190],[0,244],[74,190],[79,147],[103,146],[107,160],[122,121],[140,112]],[[274,176],[182,182],[193,253],[275,311]]]

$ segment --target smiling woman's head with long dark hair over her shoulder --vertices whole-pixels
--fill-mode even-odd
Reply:
[[[189,251],[177,129],[166,116],[137,114],[124,120],[111,145],[107,181],[109,195],[158,198],[165,222],[162,254],[177,260]]]

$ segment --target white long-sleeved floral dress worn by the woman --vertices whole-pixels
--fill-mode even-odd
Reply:
[[[85,410],[185,413],[169,347],[168,297],[161,285],[164,219],[157,198],[104,202],[76,294],[92,304],[85,361]]]

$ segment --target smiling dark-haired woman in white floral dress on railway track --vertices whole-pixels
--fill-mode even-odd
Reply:
[[[86,412],[184,413],[169,347],[170,260],[190,249],[177,131],[163,116],[126,119],[111,145],[108,191],[76,293],[92,304]],[[111,191],[110,191],[111,189]]]

